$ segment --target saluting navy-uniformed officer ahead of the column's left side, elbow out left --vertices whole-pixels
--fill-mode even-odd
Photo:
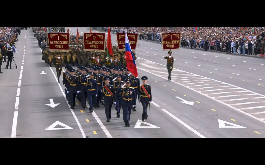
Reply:
[[[89,101],[89,112],[93,112],[93,102],[96,102],[98,96],[98,83],[94,79],[95,73],[91,72],[88,76],[81,79],[81,82],[87,83],[87,98]]]

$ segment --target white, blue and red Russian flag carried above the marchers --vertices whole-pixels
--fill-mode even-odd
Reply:
[[[129,43],[129,39],[127,33],[125,33],[125,59],[127,64],[127,69],[135,76],[138,76],[133,51],[131,49],[131,45]]]

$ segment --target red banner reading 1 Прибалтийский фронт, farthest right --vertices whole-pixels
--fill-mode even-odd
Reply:
[[[164,33],[162,34],[162,46],[163,51],[168,51],[170,49],[179,50],[180,45],[180,33]]]

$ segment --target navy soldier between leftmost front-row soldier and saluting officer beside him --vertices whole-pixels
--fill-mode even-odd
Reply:
[[[79,75],[79,77],[78,77],[78,81],[80,83],[79,93],[80,93],[82,108],[85,109],[86,108],[86,98],[87,98],[87,83],[82,82],[81,80],[87,76],[87,74],[86,74],[87,69],[83,68],[81,72],[82,72],[82,74]]]

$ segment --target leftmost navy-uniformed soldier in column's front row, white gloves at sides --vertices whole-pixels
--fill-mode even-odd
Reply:
[[[74,109],[74,104],[76,100],[76,93],[79,93],[77,89],[79,89],[79,83],[78,83],[78,77],[74,75],[74,69],[70,70],[70,76],[68,76],[68,84],[67,84],[67,93],[68,95],[68,101],[70,104],[70,108]]]

